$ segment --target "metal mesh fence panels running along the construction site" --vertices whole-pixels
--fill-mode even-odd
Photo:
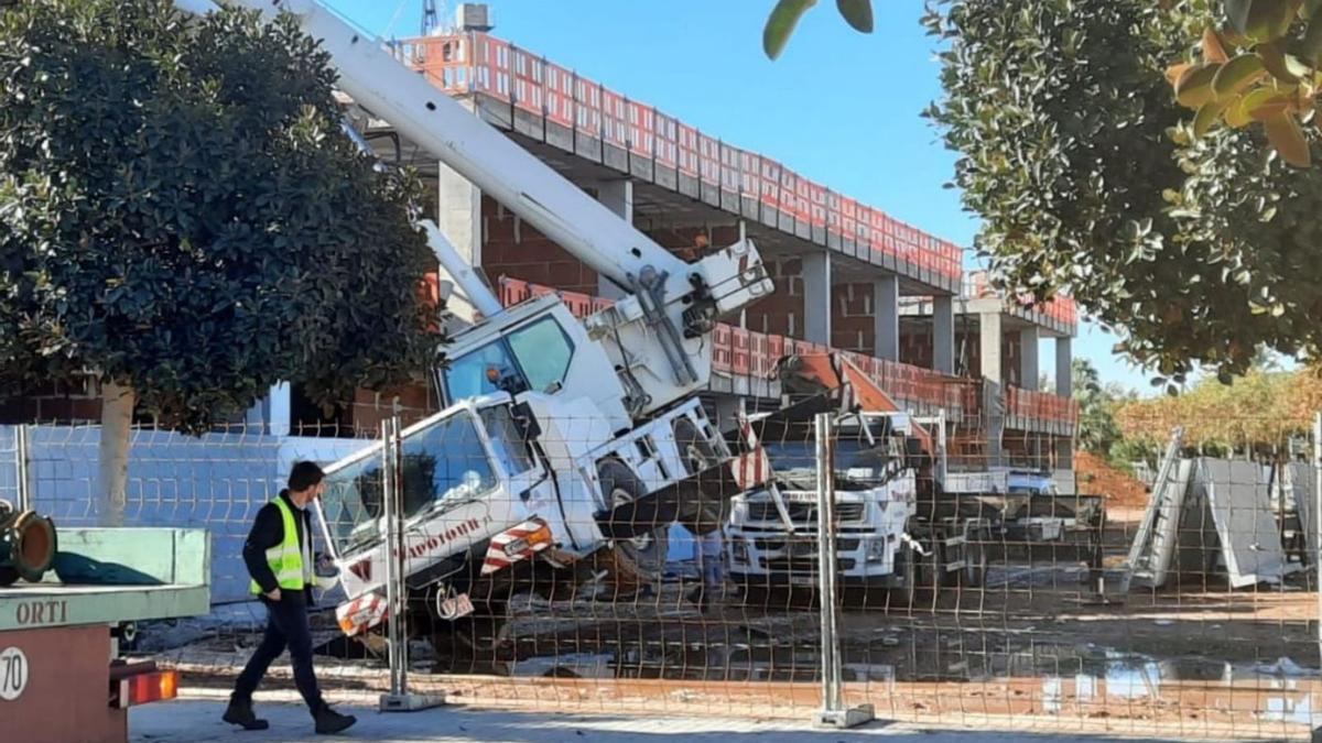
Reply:
[[[479,403],[403,414],[416,422],[397,477],[416,690],[809,718],[825,649],[843,703],[880,719],[1257,739],[1306,739],[1322,722],[1309,426],[1212,443],[1154,420],[1146,460],[1081,473],[1068,438],[1002,431],[970,446],[985,420],[896,412],[833,410],[826,460],[812,416],[784,411],[686,409],[608,456],[583,448],[602,420],[529,426]],[[341,578],[316,598],[319,677],[332,698],[387,689],[390,619],[374,624],[366,602],[337,612],[383,595],[379,440],[297,434],[135,430],[126,525],[212,534],[213,613],[140,627],[126,653],[229,689],[264,623],[245,535],[309,459],[328,469],[316,550]],[[94,520],[99,436],[26,430],[33,505],[59,526]],[[0,428],[0,463],[19,457],[16,440]],[[722,469],[726,450],[736,457]],[[820,563],[824,469],[834,591]],[[0,464],[0,497],[16,492],[11,471]],[[263,686],[291,687],[280,665]]]

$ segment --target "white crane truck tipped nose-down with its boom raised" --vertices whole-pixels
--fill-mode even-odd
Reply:
[[[505,309],[434,225],[419,225],[483,317],[444,349],[447,407],[402,434],[405,575],[434,644],[490,641],[514,591],[550,595],[603,570],[617,584],[654,579],[670,524],[718,529],[743,468],[697,393],[717,319],[772,291],[752,243],[686,263],[323,4],[222,4],[291,13],[356,106],[625,292],[582,323],[554,296]],[[338,620],[358,636],[385,620],[381,446],[327,473],[321,522],[348,595]]]

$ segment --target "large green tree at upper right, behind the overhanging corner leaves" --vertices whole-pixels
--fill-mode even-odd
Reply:
[[[1165,71],[1210,19],[1194,5],[935,0],[925,19],[945,90],[928,115],[993,278],[1067,290],[1158,382],[1322,349],[1322,181],[1257,130],[1182,126]]]

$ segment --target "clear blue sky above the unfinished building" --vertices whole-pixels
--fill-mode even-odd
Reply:
[[[422,0],[329,0],[378,34],[416,36]],[[442,15],[452,17],[456,3]],[[490,0],[496,36],[736,147],[784,161],[920,229],[969,246],[977,219],[945,188],[954,155],[920,112],[940,97],[920,0],[875,0],[878,32],[855,33],[834,3],[808,13],[776,62],[761,52],[772,0]],[[966,260],[972,266],[972,256]],[[1075,354],[1104,381],[1150,389],[1084,324]],[[1051,373],[1054,353],[1042,349]]]

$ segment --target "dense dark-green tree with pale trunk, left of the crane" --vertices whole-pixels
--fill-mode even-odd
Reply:
[[[104,521],[135,405],[201,432],[278,381],[329,403],[427,364],[419,186],[344,135],[333,82],[287,17],[0,11],[0,393],[102,382]]]

